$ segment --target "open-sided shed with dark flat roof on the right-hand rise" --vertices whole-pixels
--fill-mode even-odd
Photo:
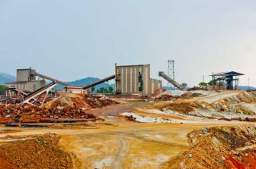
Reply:
[[[214,86],[219,86],[222,89],[238,89],[239,85],[239,76],[245,74],[240,74],[235,71],[222,72],[219,74],[210,75],[213,77]]]

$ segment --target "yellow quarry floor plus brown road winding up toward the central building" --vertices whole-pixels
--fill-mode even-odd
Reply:
[[[165,161],[189,149],[186,135],[190,131],[203,127],[236,124],[236,122],[212,123],[211,121],[205,124],[143,124],[120,117],[120,113],[138,111],[134,108],[150,108],[150,104],[133,102],[110,105],[90,111],[104,117],[105,121],[53,124],[49,128],[38,129],[15,128],[18,132],[0,134],[0,137],[59,134],[61,136],[59,146],[78,158],[77,168],[159,168]]]

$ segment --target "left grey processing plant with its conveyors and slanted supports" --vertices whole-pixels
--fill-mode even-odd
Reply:
[[[48,98],[49,93],[51,95],[50,97],[58,96],[58,93],[53,90],[57,84],[69,86],[68,83],[39,74],[31,68],[18,69],[16,78],[16,82],[5,83],[7,88],[5,89],[5,99],[2,102],[42,105]],[[46,80],[50,80],[52,83],[46,84]]]

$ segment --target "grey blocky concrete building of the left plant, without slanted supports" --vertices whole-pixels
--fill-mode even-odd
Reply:
[[[16,88],[22,91],[34,92],[43,86],[46,86],[45,80],[36,80],[36,76],[32,75],[31,72],[35,72],[33,69],[18,69],[17,70],[17,81],[13,83],[5,83],[8,88]]]

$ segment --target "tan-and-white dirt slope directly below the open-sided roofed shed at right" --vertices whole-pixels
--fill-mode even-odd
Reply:
[[[187,98],[191,95],[187,92],[183,97],[184,99],[162,106],[161,110],[210,119],[256,121],[256,92],[239,92],[210,103],[197,99],[189,100]]]

